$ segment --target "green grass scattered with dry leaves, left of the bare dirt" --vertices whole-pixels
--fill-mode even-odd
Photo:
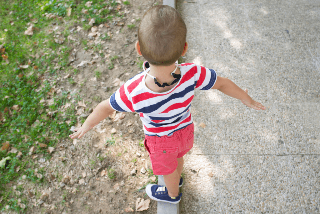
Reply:
[[[116,8],[118,4],[116,1],[95,0],[90,8],[85,5],[86,2],[12,0],[0,4],[0,56],[2,56],[0,57],[0,142],[3,143],[0,145],[2,146],[0,160],[10,158],[5,161],[4,167],[0,168],[1,212],[7,208],[9,210],[5,212],[26,213],[28,210],[28,199],[22,194],[24,187],[18,186],[21,189],[19,195],[6,184],[10,182],[15,184],[22,176],[36,185],[45,184],[47,181],[44,169],[35,163],[37,159],[32,159],[28,155],[30,148],[35,147],[35,155],[50,159],[52,156],[46,151],[47,149],[40,148],[36,142],[55,147],[57,139],[60,141],[68,139],[71,133],[70,127],[77,124],[75,106],[71,104],[63,111],[61,108],[71,101],[68,98],[70,94],[62,91],[57,95],[53,87],[57,86],[56,79],[59,77],[60,68],[73,71],[74,74],[78,74],[79,70],[69,66],[70,47],[67,46],[67,40],[58,44],[53,38],[54,33],[48,35],[45,29],[53,23],[61,26],[64,21],[69,23],[77,21],[84,30],[89,30],[91,25],[88,23],[91,18],[95,19],[94,25],[98,26],[117,17],[123,17],[122,11],[106,9],[110,6]],[[70,9],[71,14],[68,16]],[[88,11],[83,13],[83,9]],[[97,13],[99,10],[101,12]],[[45,13],[52,13],[56,17],[49,19]],[[83,22],[78,21],[82,19]],[[24,34],[29,27],[28,23],[33,25],[33,35]],[[68,30],[70,26],[69,24],[61,30],[63,36],[70,35]],[[105,36],[104,39],[111,38]],[[87,40],[82,40],[81,43],[89,48]],[[99,51],[101,46],[92,48]],[[41,53],[48,54],[41,55]],[[55,66],[56,63],[59,64],[59,68]],[[28,68],[22,68],[20,65],[25,67],[28,65]],[[100,75],[96,73],[97,78]],[[50,80],[45,76],[49,76]],[[72,78],[68,78],[67,81],[69,84],[76,83]],[[53,98],[54,102],[51,104],[43,102],[49,98]],[[48,112],[55,113],[48,114]],[[68,120],[71,122],[67,124]],[[112,142],[114,143],[112,140],[109,141],[110,144]],[[8,152],[12,148],[16,148],[17,152]],[[18,153],[21,153],[19,157]],[[20,170],[17,172],[18,167]]]

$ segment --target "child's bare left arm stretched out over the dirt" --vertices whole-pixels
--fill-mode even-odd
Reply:
[[[110,99],[110,98],[109,98]],[[74,139],[76,137],[81,138],[86,132],[92,129],[95,125],[109,116],[115,110],[110,106],[109,99],[102,101],[98,104],[93,112],[88,116],[80,128],[74,129],[76,132],[70,134],[69,137]]]

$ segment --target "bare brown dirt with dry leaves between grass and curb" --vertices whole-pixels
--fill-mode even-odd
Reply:
[[[63,45],[71,47],[70,65],[79,72],[75,74],[61,68],[58,79],[49,73],[44,79],[57,81],[55,93],[58,95],[62,91],[70,92],[69,98],[77,110],[77,126],[100,101],[109,98],[123,82],[141,72],[137,63],[144,59],[140,59],[134,48],[139,18],[162,1],[129,2],[130,5],[122,4],[124,18],[93,29],[77,30],[81,23],[70,26],[67,22],[49,26],[48,32],[57,39],[61,35],[59,31],[68,25],[67,30],[76,31],[70,33],[71,37]],[[133,23],[135,27],[129,29],[127,25]],[[101,40],[100,35],[111,39]],[[87,40],[86,46],[92,48],[85,50],[83,39]],[[94,48],[99,44],[99,48]],[[113,69],[108,68],[111,63]],[[83,102],[72,99],[76,92],[83,96]],[[32,207],[27,213],[156,213],[153,200],[144,205],[148,209],[136,211],[137,201],[148,200],[145,190],[139,189],[148,182],[156,182],[156,176],[150,171],[148,152],[140,145],[144,140],[140,118],[135,113],[119,112],[112,118],[103,120],[81,139],[60,141],[50,160],[34,159],[37,168],[45,169],[42,176],[47,182],[35,186],[27,179],[19,181],[19,185],[25,186],[28,206]]]

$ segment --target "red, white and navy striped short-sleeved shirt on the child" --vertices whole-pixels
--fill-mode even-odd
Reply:
[[[190,107],[194,90],[211,89],[217,74],[193,63],[178,66],[181,78],[171,90],[159,93],[148,89],[146,73],[141,72],[111,95],[111,107],[120,112],[138,112],[146,135],[171,135],[192,124]]]

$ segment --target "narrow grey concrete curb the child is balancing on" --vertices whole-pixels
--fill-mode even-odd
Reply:
[[[176,0],[163,0],[163,5],[169,5],[176,8]],[[165,185],[163,175],[158,176],[158,185]],[[167,202],[158,201],[157,204],[157,214],[179,214],[180,207],[179,203],[171,204]]]

